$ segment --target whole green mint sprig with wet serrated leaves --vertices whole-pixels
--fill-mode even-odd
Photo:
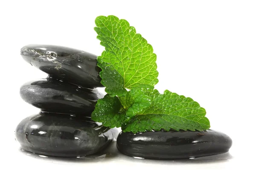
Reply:
[[[112,15],[99,16],[95,23],[97,38],[105,47],[98,66],[108,94],[98,100],[92,113],[94,121],[133,133],[209,129],[206,111],[197,102],[153,89],[158,82],[156,54],[134,27]]]

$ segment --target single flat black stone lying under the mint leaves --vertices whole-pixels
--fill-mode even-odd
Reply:
[[[185,159],[226,153],[232,140],[224,133],[205,131],[150,131],[119,133],[118,150],[145,159]]]

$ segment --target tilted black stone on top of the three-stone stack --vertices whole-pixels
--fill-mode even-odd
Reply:
[[[26,45],[20,50],[26,62],[50,77],[81,87],[103,87],[100,83],[97,56],[85,51],[57,45]]]

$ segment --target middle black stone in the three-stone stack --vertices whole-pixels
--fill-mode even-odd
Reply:
[[[40,79],[20,87],[21,98],[45,112],[90,116],[103,95],[97,89],[79,88],[56,79]]]

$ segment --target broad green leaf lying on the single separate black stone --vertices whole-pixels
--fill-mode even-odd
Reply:
[[[210,124],[205,115],[205,109],[198,102],[166,90],[154,97],[150,107],[127,119],[122,131],[207,130]]]

